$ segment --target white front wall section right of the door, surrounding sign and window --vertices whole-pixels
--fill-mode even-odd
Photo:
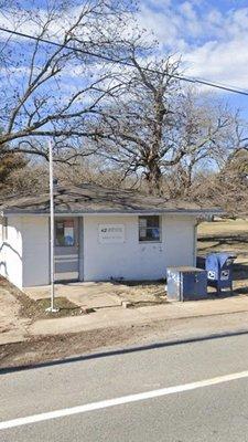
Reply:
[[[166,266],[195,265],[195,218],[162,217],[162,241],[139,242],[137,215],[84,217],[84,280],[159,280]],[[125,243],[100,244],[99,224],[125,224]]]

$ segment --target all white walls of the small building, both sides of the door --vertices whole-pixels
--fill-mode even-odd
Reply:
[[[80,274],[84,281],[159,280],[166,266],[195,265],[195,223],[194,217],[163,215],[162,241],[140,243],[137,215],[85,215]],[[99,224],[125,224],[125,242],[101,244]],[[8,240],[0,235],[0,274],[20,288],[48,284],[48,218],[9,217]]]

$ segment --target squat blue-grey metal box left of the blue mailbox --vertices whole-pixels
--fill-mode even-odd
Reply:
[[[207,297],[207,272],[196,267],[168,267],[168,299],[185,301]]]

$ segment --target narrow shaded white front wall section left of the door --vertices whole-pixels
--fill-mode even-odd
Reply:
[[[50,284],[48,218],[23,217],[23,287]]]

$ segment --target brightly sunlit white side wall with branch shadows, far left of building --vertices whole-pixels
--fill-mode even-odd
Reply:
[[[0,274],[18,287],[22,287],[22,219],[9,217],[7,238],[2,235],[2,221],[0,224]]]

